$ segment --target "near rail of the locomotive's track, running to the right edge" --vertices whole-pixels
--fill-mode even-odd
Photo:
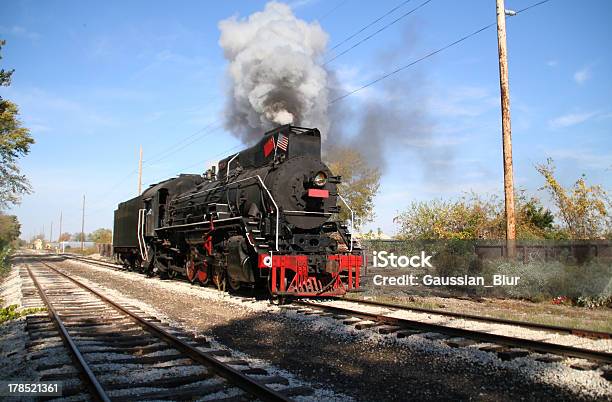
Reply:
[[[590,350],[585,348],[578,348],[575,346],[559,345],[543,341],[537,341],[532,339],[516,338],[507,335],[490,334],[487,332],[480,332],[471,329],[454,328],[448,327],[441,324],[432,324],[422,321],[414,321],[405,318],[389,317],[386,315],[380,315],[375,313],[367,313],[364,311],[355,311],[348,307],[329,306],[319,303],[312,303],[307,301],[295,301],[294,304],[308,306],[313,308],[319,308],[322,310],[332,311],[337,314],[351,315],[355,317],[364,318],[366,320],[377,321],[387,325],[395,325],[403,327],[404,329],[418,329],[425,331],[438,332],[450,336],[457,336],[462,338],[474,339],[482,342],[496,343],[504,346],[526,348],[537,352],[546,352],[556,355],[563,355],[569,357],[578,357],[587,360],[600,361],[604,363],[612,363],[612,353],[602,352],[598,350]]]

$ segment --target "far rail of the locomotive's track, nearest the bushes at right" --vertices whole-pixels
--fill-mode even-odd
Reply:
[[[417,311],[419,313],[427,313],[427,314],[437,314],[437,315],[443,315],[446,317],[460,318],[460,319],[465,319],[465,320],[515,325],[519,327],[533,328],[533,329],[544,330],[544,331],[562,332],[562,333],[567,333],[567,334],[581,336],[581,337],[588,337],[588,338],[599,338],[599,339],[612,338],[612,333],[610,332],[593,331],[593,330],[583,329],[583,328],[569,328],[569,327],[562,327],[558,325],[539,324],[537,322],[530,322],[530,321],[517,321],[517,320],[509,320],[506,318],[489,317],[489,316],[466,314],[466,313],[457,313],[453,311],[441,311],[441,310],[436,310],[436,309],[428,309],[425,307],[413,307],[413,306],[404,306],[404,305],[395,304],[395,303],[378,302],[375,300],[360,300],[360,299],[343,299],[343,300],[348,301],[348,302],[355,302],[358,304],[365,304],[369,306],[397,308],[397,309],[402,309],[402,310],[411,310],[411,311]]]

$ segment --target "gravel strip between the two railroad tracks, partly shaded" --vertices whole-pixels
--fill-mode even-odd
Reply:
[[[234,351],[356,400],[612,398],[601,370],[573,369],[572,360],[544,363],[525,356],[502,361],[475,347],[451,348],[425,334],[398,339],[358,331],[336,319],[244,301],[186,282],[81,262],[61,267],[189,331],[214,336]]]

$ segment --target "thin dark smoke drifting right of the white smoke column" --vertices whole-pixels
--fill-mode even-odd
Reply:
[[[386,71],[389,66],[405,64],[407,59],[414,57],[411,52],[416,41],[416,28],[407,27],[400,45],[388,46],[374,57],[379,69]],[[347,92],[334,72],[328,71],[328,76],[330,99]],[[333,103],[329,111],[330,145],[349,145],[357,149],[381,171],[387,168],[392,153],[401,153],[407,169],[418,169],[429,178],[438,179],[444,172],[437,162],[448,161],[452,155],[443,147],[435,146],[426,90],[426,80],[416,70],[353,95],[361,97],[358,106],[349,106],[354,102],[348,99]],[[410,165],[409,160],[415,163]]]

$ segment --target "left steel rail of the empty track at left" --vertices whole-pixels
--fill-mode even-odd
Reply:
[[[77,362],[79,368],[81,369],[81,372],[84,374],[85,379],[89,383],[89,386],[93,391],[94,397],[104,402],[110,402],[111,399],[108,397],[106,391],[102,387],[102,384],[100,384],[100,382],[96,378],[96,375],[93,373],[92,369],[85,361],[85,358],[81,354],[81,351],[79,351],[79,348],[77,347],[76,343],[74,343],[74,341],[72,340],[72,337],[68,333],[68,330],[64,326],[64,323],[57,314],[55,307],[53,307],[53,303],[51,303],[51,300],[49,300],[49,298],[47,297],[45,290],[36,279],[36,276],[34,276],[34,274],[32,273],[30,267],[26,265],[26,269],[28,270],[28,275],[30,275],[30,278],[32,278],[32,282],[36,286],[36,289],[38,289],[38,294],[40,295],[40,298],[47,305],[49,315],[51,316],[53,322],[58,328],[60,335],[64,340],[64,343],[68,346],[70,353],[73,355],[74,360]]]

